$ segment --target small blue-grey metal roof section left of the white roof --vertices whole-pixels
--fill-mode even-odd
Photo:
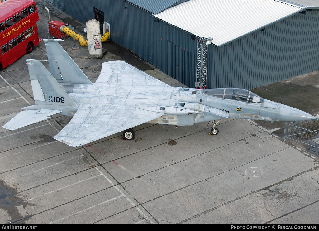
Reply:
[[[157,14],[160,11],[174,5],[179,0],[125,0],[147,11]]]

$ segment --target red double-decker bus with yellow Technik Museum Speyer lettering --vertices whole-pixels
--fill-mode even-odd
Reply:
[[[39,39],[38,11],[34,1],[7,0],[0,4],[0,70],[26,53],[31,53]]]

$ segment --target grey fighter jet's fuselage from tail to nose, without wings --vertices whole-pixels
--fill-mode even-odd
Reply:
[[[221,95],[210,92],[214,89],[200,90],[171,86],[114,87],[96,83],[64,85],[63,88],[79,109],[105,107],[115,103],[130,104],[143,110],[166,114],[150,123],[192,125],[225,117],[288,122],[315,119],[314,116],[299,109],[265,100],[238,88],[219,88],[221,92],[225,89]],[[225,92],[228,92],[228,95]],[[64,110],[61,114],[74,113]]]

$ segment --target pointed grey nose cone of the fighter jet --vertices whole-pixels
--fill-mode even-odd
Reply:
[[[316,117],[297,108],[292,108],[284,104],[280,104],[279,121],[293,122],[304,120],[316,120]]]

